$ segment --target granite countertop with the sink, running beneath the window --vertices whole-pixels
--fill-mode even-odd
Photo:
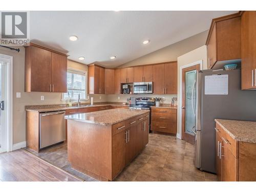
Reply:
[[[81,105],[90,105],[90,103],[81,103]],[[36,111],[39,113],[50,112],[50,111],[65,111],[73,109],[82,109],[82,108],[94,108],[97,106],[129,106],[124,105],[119,102],[109,102],[109,103],[95,103],[91,106],[67,106],[67,104],[49,104],[49,105],[27,105],[25,106],[26,111]]]

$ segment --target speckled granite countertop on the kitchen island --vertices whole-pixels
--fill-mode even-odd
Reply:
[[[150,112],[150,110],[111,109],[91,113],[66,115],[65,119],[100,125],[113,125],[147,112]]]

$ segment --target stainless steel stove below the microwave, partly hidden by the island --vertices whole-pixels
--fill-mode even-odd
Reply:
[[[138,97],[138,98],[131,98],[131,101],[132,101],[131,102],[132,104],[130,105],[130,109],[150,110],[150,127],[151,127],[151,106],[156,105],[155,98]]]

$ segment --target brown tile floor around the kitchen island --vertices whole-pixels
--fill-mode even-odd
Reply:
[[[70,166],[66,143],[39,154],[33,153],[77,177],[95,181]],[[174,136],[150,134],[142,153],[124,168],[115,181],[216,181],[216,175],[201,172],[195,167],[194,156],[194,145]]]

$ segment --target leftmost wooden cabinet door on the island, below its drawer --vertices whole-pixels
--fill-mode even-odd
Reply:
[[[119,174],[125,166],[125,133],[126,130],[112,138],[112,178]]]

